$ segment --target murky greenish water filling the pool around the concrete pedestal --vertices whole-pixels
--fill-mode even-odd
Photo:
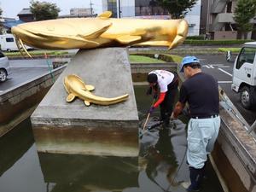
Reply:
[[[145,90],[135,86],[142,125],[152,102]],[[154,119],[148,128],[157,123]],[[117,158],[38,153],[26,119],[0,139],[0,192],[185,191],[179,183],[189,180],[186,130],[181,120],[174,123],[172,130],[158,126],[141,132],[139,158]],[[223,191],[210,164],[202,191]]]

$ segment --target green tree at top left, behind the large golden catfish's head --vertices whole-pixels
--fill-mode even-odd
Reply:
[[[56,19],[61,9],[55,3],[31,1],[30,9],[35,20],[52,20]]]

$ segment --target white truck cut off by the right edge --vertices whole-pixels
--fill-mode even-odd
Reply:
[[[244,44],[236,57],[231,89],[240,93],[243,108],[256,107],[256,42]]]

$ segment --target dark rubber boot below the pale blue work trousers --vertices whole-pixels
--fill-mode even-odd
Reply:
[[[201,181],[203,178],[203,170],[202,169],[195,169],[194,167],[189,167],[189,177],[190,177],[190,181],[191,184],[189,185],[189,188],[187,189],[187,191],[193,192],[193,191],[200,191],[201,189]]]

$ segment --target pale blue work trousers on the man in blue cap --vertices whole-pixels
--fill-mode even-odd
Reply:
[[[207,119],[190,119],[188,125],[187,160],[189,166],[201,169],[212,152],[218,137],[219,116]]]

